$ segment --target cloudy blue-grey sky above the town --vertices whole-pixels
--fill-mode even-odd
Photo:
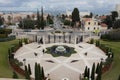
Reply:
[[[0,0],[1,10],[36,10],[43,6],[48,11],[73,10],[108,13],[115,10],[120,0]]]

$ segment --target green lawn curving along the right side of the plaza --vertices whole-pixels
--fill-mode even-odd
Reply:
[[[112,68],[103,74],[102,80],[118,80],[120,75],[120,42],[101,41],[110,46],[114,52],[114,62]]]

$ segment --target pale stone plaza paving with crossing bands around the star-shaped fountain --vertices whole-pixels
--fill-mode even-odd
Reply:
[[[52,57],[50,54],[43,54],[42,50],[44,47],[50,47],[53,45],[67,45],[70,47],[74,47],[77,53],[72,54],[71,57]],[[34,48],[32,48],[32,46],[34,46]],[[21,50],[24,49],[26,51],[20,53]],[[37,54],[37,56],[35,56],[35,53]],[[87,53],[87,55],[85,55],[85,53]],[[36,45],[36,43],[31,43],[20,48],[16,52],[15,58],[23,62],[24,65],[31,65],[31,77],[34,77],[34,65],[35,62],[37,62],[44,67],[46,75],[50,74],[52,80],[61,80],[65,76],[70,80],[79,80],[79,75],[84,72],[85,66],[88,66],[91,69],[93,63],[97,64],[101,61],[101,58],[105,59],[106,56],[104,52],[102,52],[99,48],[87,43],[80,43],[77,45],[67,43]],[[26,59],[26,61],[24,62],[23,59]],[[53,61],[53,63],[48,62],[47,60],[51,60]],[[76,60],[76,62],[72,62],[74,60]],[[64,70],[65,68],[67,71],[61,73],[61,70]],[[61,73],[61,76],[59,76],[59,73]],[[68,73],[74,73],[74,76],[70,76],[70,74]]]

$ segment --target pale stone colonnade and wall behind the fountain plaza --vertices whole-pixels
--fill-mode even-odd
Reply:
[[[42,39],[43,44],[48,43],[71,43],[77,44],[91,38],[90,32],[74,32],[74,31],[61,31],[61,30],[15,30],[13,34],[16,38],[28,38],[32,42],[40,42]]]

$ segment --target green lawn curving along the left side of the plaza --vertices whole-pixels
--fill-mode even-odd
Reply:
[[[11,78],[13,70],[8,62],[8,48],[11,44],[18,43],[18,40],[0,42],[0,78]],[[20,76],[22,78],[22,76]]]

